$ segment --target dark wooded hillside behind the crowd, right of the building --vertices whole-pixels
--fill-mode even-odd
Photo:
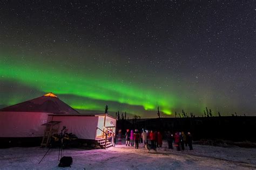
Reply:
[[[221,139],[232,141],[256,141],[256,117],[215,116],[184,118],[120,119],[117,129],[142,129],[160,131],[191,132],[194,140]]]

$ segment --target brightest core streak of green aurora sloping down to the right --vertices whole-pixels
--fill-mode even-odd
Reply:
[[[93,100],[103,100],[106,103],[107,101],[125,103],[142,106],[145,110],[156,110],[159,105],[166,115],[171,115],[172,109],[179,103],[177,97],[172,95],[166,97],[159,91],[127,86],[119,81],[109,81],[105,77],[86,77],[86,75],[75,73],[75,70],[70,72],[58,66],[45,66],[35,62],[31,64],[25,61],[15,63],[6,58],[1,63],[2,79],[13,80],[45,93],[52,91],[60,95],[76,95]],[[102,110],[102,105],[83,104],[83,101],[71,100],[68,104],[76,109]],[[110,109],[110,111],[116,110]]]

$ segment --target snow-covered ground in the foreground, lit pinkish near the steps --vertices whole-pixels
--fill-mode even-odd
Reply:
[[[194,150],[169,150],[164,142],[158,153],[116,145],[99,150],[70,148],[63,156],[71,156],[73,165],[65,169],[256,169],[256,148],[193,145]],[[58,148],[0,149],[0,169],[64,169],[58,167]]]

